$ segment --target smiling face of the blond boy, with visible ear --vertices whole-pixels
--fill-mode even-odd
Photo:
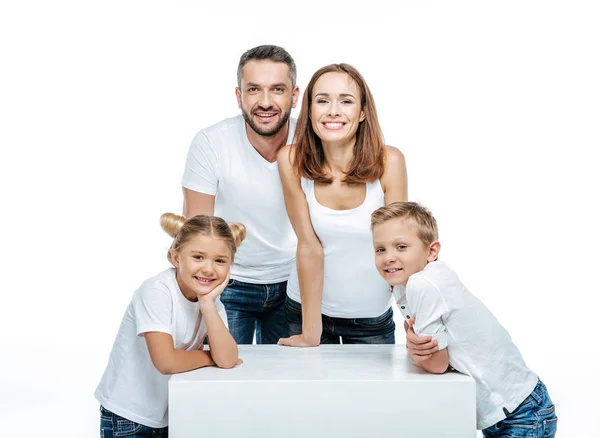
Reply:
[[[429,245],[418,236],[413,221],[404,218],[387,220],[373,227],[375,266],[392,286],[406,286],[408,278],[437,259],[440,243]]]

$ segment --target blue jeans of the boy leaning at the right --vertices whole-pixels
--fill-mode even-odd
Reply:
[[[533,392],[506,418],[482,430],[485,438],[554,438],[558,418],[554,404],[541,380]]]

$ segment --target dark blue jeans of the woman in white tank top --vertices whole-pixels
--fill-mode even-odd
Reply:
[[[395,344],[394,314],[390,307],[374,318],[334,318],[321,315],[323,333],[321,344]],[[302,333],[302,306],[287,297],[285,319],[290,336]]]

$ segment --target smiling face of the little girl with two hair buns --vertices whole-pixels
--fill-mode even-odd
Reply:
[[[171,250],[177,284],[190,301],[206,295],[227,277],[232,254],[225,240],[196,234],[178,252]]]

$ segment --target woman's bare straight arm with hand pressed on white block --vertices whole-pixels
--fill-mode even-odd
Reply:
[[[291,162],[289,145],[277,154],[277,166],[283,187],[285,208],[294,232],[298,237],[296,264],[302,299],[302,333],[280,339],[278,344],[292,347],[312,347],[321,343],[323,323],[321,300],[323,298],[323,246],[312,227],[306,196],[300,185],[300,176]]]

